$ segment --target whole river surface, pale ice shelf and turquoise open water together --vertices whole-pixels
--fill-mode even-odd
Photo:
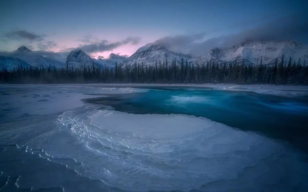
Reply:
[[[2,191],[308,191],[308,99],[0,85]]]

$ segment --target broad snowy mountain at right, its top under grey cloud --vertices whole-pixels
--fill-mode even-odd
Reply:
[[[280,59],[283,54],[286,60],[289,57],[293,60],[305,59],[308,58],[308,49],[306,45],[295,41],[254,41],[227,49],[212,49],[199,57],[196,62],[241,63],[244,60],[245,65],[248,65],[260,64],[262,59],[262,63],[266,65],[273,64],[275,59]]]

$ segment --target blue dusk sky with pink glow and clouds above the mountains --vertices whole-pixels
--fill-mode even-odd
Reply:
[[[307,1],[1,0],[0,51],[130,56],[159,40],[172,51],[200,55],[248,40],[307,43]]]

